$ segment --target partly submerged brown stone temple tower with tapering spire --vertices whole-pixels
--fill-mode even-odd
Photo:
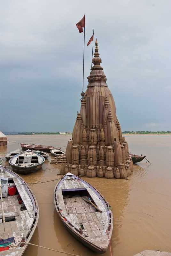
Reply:
[[[128,144],[122,136],[112,93],[106,84],[96,40],[93,67],[82,93],[72,140],[68,141],[61,174],[125,179],[133,171]]]

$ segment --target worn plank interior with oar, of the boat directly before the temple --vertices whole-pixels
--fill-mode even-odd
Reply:
[[[109,205],[106,203],[105,207],[103,199],[100,200],[97,194],[82,182],[64,180],[60,187],[56,191],[56,204],[63,219],[90,242],[100,247],[108,246],[106,230],[110,232],[112,225],[111,213],[107,213]]]

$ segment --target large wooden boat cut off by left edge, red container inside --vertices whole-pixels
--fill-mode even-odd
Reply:
[[[0,166],[0,255],[21,256],[21,238],[30,242],[39,218],[39,207],[27,183],[16,173]],[[10,249],[9,249],[10,248]]]

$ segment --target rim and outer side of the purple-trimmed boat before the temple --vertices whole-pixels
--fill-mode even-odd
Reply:
[[[60,182],[64,179],[64,177],[65,176],[67,176],[67,174],[65,174],[62,178],[61,178],[61,180],[59,180],[58,181],[58,183],[56,184],[56,186],[55,186],[55,188],[54,188],[54,203],[55,203],[55,208],[56,208],[56,211],[57,211],[57,213],[58,213],[58,216],[60,217],[60,219],[63,221],[63,223],[64,223],[64,225],[66,225],[66,228],[68,228],[69,229],[69,231],[71,231],[71,233],[74,233],[75,234],[75,236],[76,237],[78,237],[78,239],[79,240],[82,240],[83,241],[83,244],[85,245],[85,244],[88,244],[87,246],[90,248],[90,247],[92,247],[92,248],[94,248],[95,249],[95,251],[96,252],[98,252],[98,253],[104,253],[104,252],[106,252],[107,251],[107,249],[108,249],[108,246],[109,246],[109,244],[110,244],[110,240],[111,240],[111,237],[112,237],[112,232],[113,232],[113,223],[114,223],[114,220],[113,220],[113,212],[110,210],[110,209],[108,209],[108,207],[109,207],[109,203],[107,202],[107,200],[105,199],[105,197],[104,196],[102,196],[101,195],[101,193],[96,189],[96,188],[94,188],[89,182],[87,182],[87,181],[85,181],[85,180],[82,180],[81,179],[81,181],[83,181],[83,183],[87,183],[90,187],[91,187],[91,189],[94,191],[97,191],[97,193],[99,194],[99,196],[101,196],[101,198],[103,199],[103,201],[105,202],[105,204],[103,204],[104,206],[105,206],[105,208],[107,207],[107,215],[108,215],[108,221],[109,221],[109,214],[111,214],[111,228],[110,228],[110,231],[109,231],[109,243],[108,243],[108,245],[107,245],[107,247],[100,247],[100,246],[97,246],[96,244],[94,244],[93,242],[91,242],[91,241],[89,241],[88,239],[86,239],[86,237],[84,237],[84,236],[82,236],[82,234],[80,234],[74,227],[72,227],[68,222],[66,222],[65,220],[64,220],[64,217],[61,215],[61,213],[59,212],[59,210],[58,210],[58,204],[57,204],[57,197],[56,197],[56,192],[57,191],[59,191],[59,189],[57,189],[58,188],[58,186],[59,186],[59,184],[60,184]],[[71,176],[71,175],[70,175]],[[76,175],[72,175],[71,177],[74,177],[74,178],[77,178],[77,179],[79,179],[79,177],[78,176],[76,176]],[[77,190],[77,189],[74,189],[74,190]],[[95,192],[94,191],[94,192]],[[96,193],[96,194],[97,194]],[[101,198],[99,198],[100,200],[101,200]],[[101,200],[101,202],[103,202],[102,200]],[[108,206],[107,206],[107,204],[108,204]],[[109,222],[110,223],[110,222]],[[109,225],[108,225],[108,227],[109,227]],[[106,229],[107,230],[107,229]]]

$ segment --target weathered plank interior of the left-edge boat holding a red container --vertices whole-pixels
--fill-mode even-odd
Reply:
[[[23,236],[29,236],[34,209],[24,185],[18,178],[4,173],[0,175],[0,182],[3,198],[0,199],[1,252],[8,250],[11,243],[19,244]]]

